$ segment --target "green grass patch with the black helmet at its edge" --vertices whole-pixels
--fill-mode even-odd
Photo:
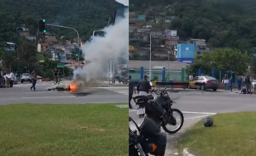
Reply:
[[[196,156],[256,156],[256,113],[224,113],[212,116],[214,127],[203,121],[189,128],[179,142]]]

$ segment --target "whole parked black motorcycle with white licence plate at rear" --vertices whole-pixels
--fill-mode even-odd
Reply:
[[[150,82],[152,85],[152,83]],[[165,89],[156,91],[152,90],[157,97],[154,98],[153,95],[145,95],[145,96],[136,96],[134,97],[134,101],[136,105],[139,105],[139,109],[137,110],[137,115],[139,118],[144,117],[145,114],[150,119],[153,119],[158,126],[162,126],[164,131],[167,133],[173,134],[177,133],[184,123],[184,116],[182,112],[178,109],[171,108],[171,106],[176,104],[176,102],[172,101]],[[180,116],[180,124],[177,124],[176,117],[173,116],[174,113],[177,113]],[[174,130],[168,130],[166,127],[169,124],[171,127],[176,127]]]

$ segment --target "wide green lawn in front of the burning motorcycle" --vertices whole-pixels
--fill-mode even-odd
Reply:
[[[115,105],[0,106],[0,155],[128,156],[128,109]]]

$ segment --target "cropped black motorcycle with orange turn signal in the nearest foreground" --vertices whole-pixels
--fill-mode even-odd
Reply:
[[[136,129],[129,126],[129,156],[164,156],[167,144],[166,133],[160,132],[157,124],[145,117],[141,126],[138,126],[131,117],[129,122],[135,124]]]

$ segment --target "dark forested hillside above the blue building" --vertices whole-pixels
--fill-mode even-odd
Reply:
[[[252,52],[256,46],[254,0],[130,0],[129,10],[173,14],[166,29],[177,29],[180,39],[206,39],[210,47]],[[171,9],[165,9],[170,5]],[[159,7],[161,6],[161,7]],[[159,26],[159,28],[163,25]],[[158,27],[157,27],[158,28]]]

